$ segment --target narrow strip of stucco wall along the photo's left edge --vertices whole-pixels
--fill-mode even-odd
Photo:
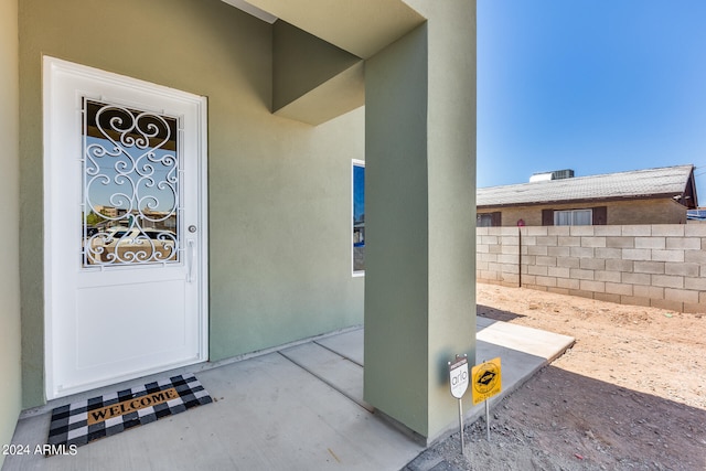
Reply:
[[[0,446],[10,443],[22,406],[20,372],[20,159],[18,0],[0,0]],[[0,454],[0,468],[4,456]]]

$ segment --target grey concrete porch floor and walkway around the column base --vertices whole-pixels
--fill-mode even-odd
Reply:
[[[484,318],[478,318],[477,335],[479,362],[502,360],[503,392],[492,402],[518,387],[574,342],[565,335]],[[362,329],[235,363],[181,372],[195,373],[214,403],[79,447],[75,456],[8,456],[2,470],[370,471],[399,470],[411,462],[410,469],[425,471],[439,464],[417,458],[425,447],[373,414],[363,400]],[[13,443],[30,450],[44,443],[53,407],[149,381],[141,378],[25,411]],[[454,399],[449,395],[449,400]],[[475,406],[466,422],[475,420],[482,410],[482,405]]]

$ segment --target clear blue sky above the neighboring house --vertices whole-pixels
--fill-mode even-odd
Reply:
[[[478,0],[479,188],[683,163],[706,205],[705,0]]]

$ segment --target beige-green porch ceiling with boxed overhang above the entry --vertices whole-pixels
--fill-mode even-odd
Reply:
[[[274,44],[271,111],[314,126],[363,106],[363,61],[425,21],[400,0],[223,1],[268,23],[281,20],[276,31],[291,38]]]

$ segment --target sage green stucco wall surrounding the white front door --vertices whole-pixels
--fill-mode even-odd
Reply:
[[[44,400],[42,54],[208,98],[212,361],[363,322],[350,246],[364,114],[272,116],[272,25],[220,0],[23,0],[20,40],[25,407]]]

